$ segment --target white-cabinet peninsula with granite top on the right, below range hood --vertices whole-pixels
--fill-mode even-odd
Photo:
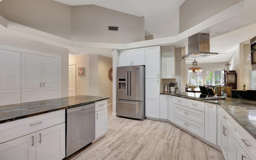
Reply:
[[[162,96],[168,96],[171,124],[221,150],[225,160],[256,159],[256,101],[202,99],[200,93],[190,92]],[[161,107],[166,110],[166,105]]]

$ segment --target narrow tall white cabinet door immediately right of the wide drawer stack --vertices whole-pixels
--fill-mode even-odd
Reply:
[[[217,144],[217,106],[216,104],[205,103],[204,108],[204,139]]]

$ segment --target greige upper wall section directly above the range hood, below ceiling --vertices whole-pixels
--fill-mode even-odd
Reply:
[[[182,33],[241,1],[242,0],[186,0],[180,6],[179,32]]]

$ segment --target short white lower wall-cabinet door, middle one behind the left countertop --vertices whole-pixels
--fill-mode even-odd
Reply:
[[[21,102],[42,100],[42,88],[21,89]]]

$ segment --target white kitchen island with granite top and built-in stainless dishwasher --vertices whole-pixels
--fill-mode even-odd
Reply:
[[[90,142],[104,136],[107,131],[107,99],[81,95],[0,106],[0,159],[62,160],[66,157],[67,122],[70,120],[78,122],[90,117],[90,121],[80,121],[82,127],[76,127],[77,123],[69,125],[80,136],[88,135],[86,126],[90,126]],[[88,106],[92,109],[88,110]],[[70,112],[71,115],[78,114],[68,120]],[[86,132],[79,132],[81,128]],[[83,146],[90,142],[84,142]]]

